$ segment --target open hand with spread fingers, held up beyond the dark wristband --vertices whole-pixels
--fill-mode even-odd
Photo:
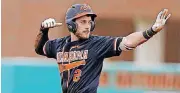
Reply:
[[[156,18],[156,22],[152,26],[153,31],[159,32],[163,29],[167,19],[171,16],[171,14],[168,14],[168,15],[167,14],[168,14],[168,9],[164,9],[158,14]]]

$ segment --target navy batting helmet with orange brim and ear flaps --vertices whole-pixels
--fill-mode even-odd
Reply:
[[[66,24],[68,26],[68,30],[70,32],[75,33],[77,30],[77,24],[75,23],[75,19],[81,17],[81,16],[85,16],[85,15],[89,15],[91,16],[92,22],[91,22],[91,29],[90,31],[93,31],[95,28],[95,17],[97,17],[97,15],[95,13],[93,13],[93,11],[91,10],[91,7],[87,4],[74,4],[72,5],[71,8],[69,8],[67,10],[66,13]]]

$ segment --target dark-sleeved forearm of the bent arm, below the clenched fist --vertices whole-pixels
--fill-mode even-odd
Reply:
[[[35,51],[39,55],[45,55],[43,51],[43,47],[45,43],[49,40],[48,38],[48,28],[46,29],[41,29],[36,37],[35,41]]]

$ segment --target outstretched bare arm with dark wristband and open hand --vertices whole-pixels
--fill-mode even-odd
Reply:
[[[120,43],[119,48],[125,51],[132,50],[136,48],[138,45],[146,42],[151,37],[153,37],[153,35],[155,35],[163,29],[167,19],[170,16],[171,14],[168,14],[168,10],[164,9],[158,14],[154,25],[150,29],[144,32],[134,32],[126,37],[123,37],[123,40]]]

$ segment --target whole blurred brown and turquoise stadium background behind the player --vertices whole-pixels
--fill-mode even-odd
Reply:
[[[2,0],[2,93],[61,93],[56,60],[39,56],[41,22],[65,22],[67,9],[87,3],[98,15],[93,34],[126,36],[150,28],[164,8],[165,29],[133,51],[106,59],[98,93],[180,93],[180,0]],[[66,24],[50,39],[68,35]]]

